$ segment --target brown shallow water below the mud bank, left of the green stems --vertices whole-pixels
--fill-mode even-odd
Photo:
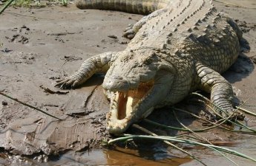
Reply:
[[[48,162],[37,162],[33,159],[20,160],[18,157],[13,160],[4,159],[2,154],[0,165],[30,165],[30,166],[53,166],[53,165],[171,165],[177,166],[190,162],[189,158],[176,158],[166,151],[152,150],[140,152],[117,148],[113,150],[93,150],[85,153],[65,153],[58,158],[53,158]]]

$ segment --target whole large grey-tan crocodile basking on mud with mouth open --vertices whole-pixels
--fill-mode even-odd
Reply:
[[[172,106],[197,89],[209,92],[223,117],[235,114],[232,85],[220,75],[240,52],[242,32],[210,0],[78,0],[81,9],[121,10],[148,14],[124,32],[125,50],[105,52],[56,83],[76,88],[105,72],[102,83],[111,100],[107,130],[120,134],[154,108]]]

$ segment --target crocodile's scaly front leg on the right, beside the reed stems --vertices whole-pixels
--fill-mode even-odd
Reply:
[[[224,77],[202,64],[197,65],[197,75],[200,78],[200,89],[211,93],[211,102],[215,111],[222,117],[233,114],[232,119],[243,120],[243,114],[238,111],[234,113],[232,86]]]

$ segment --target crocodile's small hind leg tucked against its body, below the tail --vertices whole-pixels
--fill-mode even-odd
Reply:
[[[144,17],[142,17],[140,19],[140,21],[138,21],[135,24],[130,24],[126,29],[125,32],[123,33],[123,36],[125,38],[128,39],[132,39],[134,38],[134,36],[136,35],[136,33],[140,30],[140,28],[151,18],[156,17],[157,15],[160,15],[162,13],[165,13],[167,11],[166,8],[160,9],[160,10],[156,10],[153,13],[149,14],[149,15],[145,15]]]

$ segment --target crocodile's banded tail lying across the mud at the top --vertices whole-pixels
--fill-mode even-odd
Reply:
[[[170,0],[76,0],[79,9],[119,10],[148,14],[166,7]]]

